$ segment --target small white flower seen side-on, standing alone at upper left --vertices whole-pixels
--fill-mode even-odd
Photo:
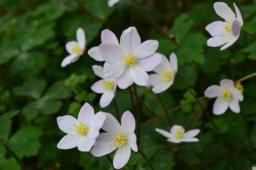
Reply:
[[[76,31],[76,41],[69,41],[66,43],[66,50],[70,54],[68,57],[64,58],[61,62],[61,67],[66,67],[67,65],[77,61],[85,51],[85,34],[84,30],[79,28]]]

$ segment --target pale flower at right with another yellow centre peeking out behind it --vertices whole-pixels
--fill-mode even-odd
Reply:
[[[243,101],[243,94],[235,87],[232,80],[223,79],[220,86],[213,85],[208,87],[204,95],[207,98],[217,98],[213,105],[213,114],[221,115],[228,107],[235,113],[240,112],[239,101]]]

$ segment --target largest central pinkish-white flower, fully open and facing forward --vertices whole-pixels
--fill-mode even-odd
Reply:
[[[162,61],[160,54],[155,53],[158,41],[141,39],[135,27],[124,30],[120,46],[114,43],[103,43],[99,50],[108,66],[104,67],[104,76],[115,79],[117,86],[125,89],[136,83],[148,86],[148,74]]]

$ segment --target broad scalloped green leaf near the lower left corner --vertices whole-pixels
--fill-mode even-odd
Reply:
[[[9,140],[8,146],[19,158],[35,156],[40,148],[40,129],[33,126],[21,127]]]

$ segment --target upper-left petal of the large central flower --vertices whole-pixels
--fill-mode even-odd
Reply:
[[[123,62],[124,53],[118,45],[115,45],[113,43],[100,44],[99,50],[101,57],[107,63]]]

